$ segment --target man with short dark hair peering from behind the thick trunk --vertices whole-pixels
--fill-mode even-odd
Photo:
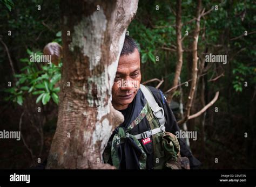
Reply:
[[[179,131],[179,127],[163,93],[156,88],[147,87],[153,95],[152,102],[156,102],[159,109],[164,110],[162,125],[165,126],[165,132],[163,126],[159,125],[161,123],[157,122],[160,120],[154,117],[156,115],[152,115],[152,107],[146,99],[145,92],[139,89],[141,78],[138,46],[132,38],[126,36],[112,87],[112,105],[122,112],[125,120],[111,135],[104,150],[104,162],[118,169],[162,169],[166,167],[168,155],[169,158],[172,155],[172,159],[178,163],[176,155],[180,154],[180,157],[188,158],[191,169],[198,168],[201,163],[192,155],[184,139],[177,140],[172,136]],[[161,132],[150,134],[152,124],[158,124]],[[145,135],[145,132],[149,134],[142,138],[141,134]],[[163,135],[168,134],[167,132],[173,133],[169,133],[171,134],[169,138],[173,141],[170,150],[176,153],[174,157],[166,149],[164,150],[165,144],[160,140]]]

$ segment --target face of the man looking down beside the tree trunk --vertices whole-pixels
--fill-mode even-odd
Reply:
[[[112,87],[112,105],[115,109],[124,110],[128,107],[136,96],[141,78],[138,50],[120,56]]]

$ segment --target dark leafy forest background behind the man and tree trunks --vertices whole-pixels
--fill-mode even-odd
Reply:
[[[126,33],[140,48],[142,82],[157,78],[147,85],[162,82],[159,89],[166,97],[178,60],[176,6],[176,1],[139,1]],[[190,92],[185,83],[192,77],[197,4],[182,1],[181,8],[183,66],[171,103],[177,120]],[[203,1],[202,9],[212,10],[200,19],[199,70],[191,114],[208,104],[215,92],[219,97],[206,112],[186,121],[188,131],[198,132],[190,147],[203,162],[202,169],[255,169],[256,3]],[[29,168],[48,156],[57,123],[62,63],[33,63],[29,56],[42,54],[49,42],[62,45],[60,23],[59,1],[0,2],[0,131],[21,130],[23,135],[21,141],[0,140],[1,169]],[[227,55],[228,63],[202,63],[207,53]]]

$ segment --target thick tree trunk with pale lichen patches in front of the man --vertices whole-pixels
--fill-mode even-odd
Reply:
[[[47,169],[109,169],[102,153],[124,120],[111,104],[126,28],[138,1],[62,1],[63,69]],[[70,35],[69,35],[70,33]]]

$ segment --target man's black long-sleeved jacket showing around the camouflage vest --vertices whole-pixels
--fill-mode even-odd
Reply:
[[[177,124],[177,121],[173,115],[173,112],[171,111],[167,101],[164,98],[163,93],[153,87],[149,87],[151,92],[153,93],[154,98],[156,99],[156,102],[160,107],[163,107],[165,111],[165,119],[166,119],[166,132],[171,132],[175,134],[177,131],[179,131],[179,127]],[[142,91],[138,90],[136,96],[133,99],[133,102],[129,104],[126,110],[121,111],[122,113],[125,113],[124,117],[124,123],[120,125],[120,127],[125,127],[130,125],[130,123],[136,119],[138,116],[139,112],[142,110],[143,106],[145,105],[145,97],[142,93]],[[129,133],[136,135],[143,133],[145,131],[150,130],[150,125],[149,122],[147,121],[146,117],[143,118],[140,123],[135,126]],[[112,141],[114,134],[117,132],[114,132],[111,135],[110,141]],[[126,138],[127,139],[127,138]],[[120,169],[136,169],[139,168],[139,166],[136,166],[138,164],[138,156],[139,156],[139,151],[137,150],[137,146],[133,145],[133,140],[132,139],[127,139],[125,143],[121,144],[120,149],[118,150],[118,153],[120,155],[119,159],[121,161],[121,166]],[[180,143],[180,154],[181,156],[186,156],[190,160],[190,167],[191,169],[197,169],[201,162],[194,157],[190,151],[190,149],[186,146],[185,140],[184,139],[178,139]],[[141,140],[139,140],[141,141]],[[147,169],[152,169],[153,168],[153,142],[149,142],[146,145],[142,146],[145,148],[145,152],[147,154],[147,161],[146,161],[146,168]],[[111,159],[109,161],[111,164]]]

